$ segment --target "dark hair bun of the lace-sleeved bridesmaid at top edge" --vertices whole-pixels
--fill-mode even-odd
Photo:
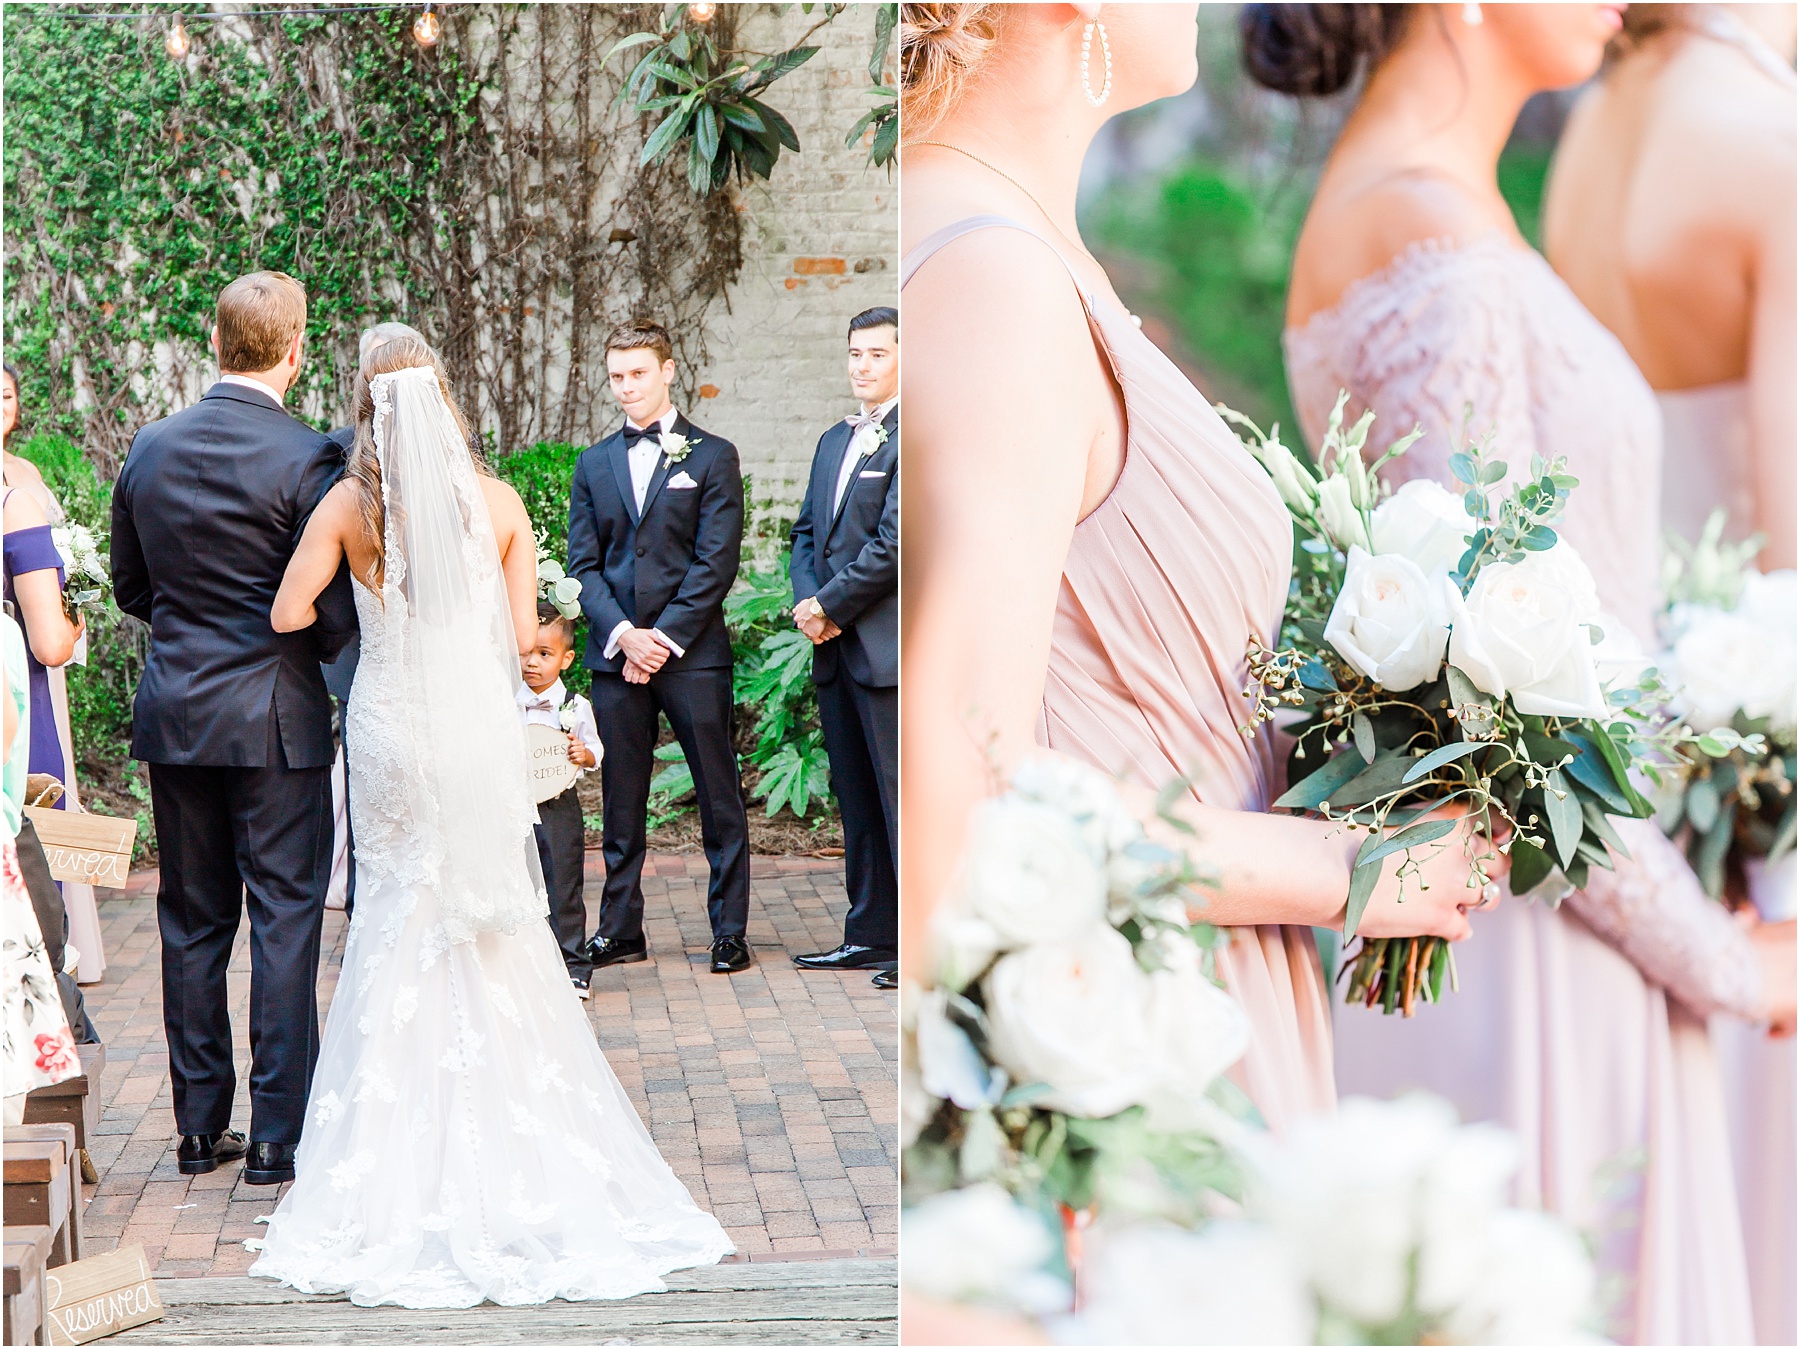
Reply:
[[[1244,70],[1264,88],[1328,97],[1373,68],[1406,32],[1413,5],[1244,5]]]

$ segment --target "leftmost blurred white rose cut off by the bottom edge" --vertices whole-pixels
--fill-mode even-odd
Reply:
[[[1292,1250],[1255,1223],[1098,1228],[1062,1344],[1312,1344],[1318,1311]]]

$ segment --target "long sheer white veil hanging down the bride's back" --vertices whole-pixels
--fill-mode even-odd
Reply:
[[[437,371],[376,375],[369,391],[387,553],[380,641],[409,769],[383,785],[407,796],[405,870],[430,886],[452,942],[515,931],[544,922],[547,902],[493,522]]]

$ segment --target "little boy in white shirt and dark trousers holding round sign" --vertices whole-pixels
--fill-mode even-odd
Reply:
[[[605,753],[594,728],[594,710],[580,693],[563,688],[563,670],[574,663],[574,620],[547,600],[538,602],[538,638],[520,661],[518,713],[526,726],[554,726],[569,737],[569,762],[581,773]],[[576,774],[580,782],[580,773]],[[538,801],[538,861],[551,899],[551,931],[563,953],[569,982],[587,998],[594,973],[587,958],[587,902],[581,899],[587,861],[587,830],[576,782],[547,801]]]

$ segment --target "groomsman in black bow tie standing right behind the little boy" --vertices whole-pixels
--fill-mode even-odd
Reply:
[[[569,501],[569,575],[581,582],[589,695],[607,749],[607,888],[589,955],[594,969],[648,955],[639,877],[661,711],[700,798],[711,969],[731,974],[751,964],[751,830],[731,744],[724,609],[743,546],[743,475],[736,447],[670,402],[675,360],[662,328],[616,328],[607,378],[626,421],[581,454]]]

